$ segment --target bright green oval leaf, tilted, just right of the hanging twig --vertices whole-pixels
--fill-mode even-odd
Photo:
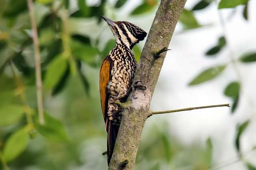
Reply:
[[[64,54],[58,55],[49,65],[46,71],[44,85],[46,88],[54,87],[63,76],[67,68],[67,61]]]

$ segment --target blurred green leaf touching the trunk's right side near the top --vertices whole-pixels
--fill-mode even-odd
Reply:
[[[185,8],[180,14],[179,21],[184,25],[185,29],[194,29],[200,27],[194,16],[194,13],[190,10],[186,10]]]

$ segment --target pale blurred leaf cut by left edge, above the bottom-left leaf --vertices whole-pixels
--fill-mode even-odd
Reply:
[[[7,104],[0,107],[0,126],[12,125],[20,120],[24,113],[20,105]]]

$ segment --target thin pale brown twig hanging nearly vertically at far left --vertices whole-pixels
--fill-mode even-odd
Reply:
[[[28,9],[31,22],[31,28],[33,33],[34,53],[35,53],[35,68],[36,68],[36,97],[38,107],[39,123],[44,124],[44,107],[43,107],[43,92],[42,92],[42,76],[41,76],[41,64],[40,64],[40,49],[38,41],[38,33],[36,28],[36,20],[34,16],[33,1],[28,0]]]

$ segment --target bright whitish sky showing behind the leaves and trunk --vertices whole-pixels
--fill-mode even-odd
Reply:
[[[111,0],[114,4],[116,0]],[[188,0],[185,8],[191,9],[198,0]],[[97,3],[89,0],[88,4]],[[145,31],[149,31],[154,19],[154,12],[130,17],[128,14],[141,3],[141,0],[130,0],[118,11],[108,11],[109,18],[125,20],[135,23]],[[154,111],[180,109],[185,107],[205,106],[214,104],[232,104],[230,98],[223,95],[224,88],[237,76],[230,63],[230,51],[233,57],[239,58],[245,52],[256,51],[256,1],[249,2],[249,21],[242,18],[242,6],[238,6],[232,18],[231,9],[220,10],[225,20],[228,48],[225,47],[216,57],[206,57],[204,53],[216,45],[218,37],[223,34],[216,3],[212,3],[205,10],[195,12],[198,22],[208,25],[199,29],[182,32],[182,25],[178,23],[172,37],[164,65],[162,67],[158,84],[151,102]],[[156,11],[156,9],[155,9]],[[114,14],[114,15],[113,15]],[[102,47],[113,38],[106,25],[92,27],[92,20],[84,19],[80,22],[81,29],[76,30],[90,37],[104,37]],[[76,22],[74,21],[74,24]],[[82,29],[90,23],[90,28]],[[96,25],[96,23],[95,23]],[[101,32],[103,30],[103,32]],[[145,41],[140,43],[143,47]],[[227,68],[217,78],[197,86],[188,86],[188,82],[202,70],[211,66],[229,63]],[[143,136],[149,127],[156,124],[159,119],[168,120],[170,131],[183,145],[192,145],[195,142],[205,145],[206,139],[211,137],[214,146],[213,169],[221,170],[247,170],[243,162],[232,163],[229,166],[220,166],[230,163],[238,154],[234,145],[236,125],[247,119],[251,122],[241,137],[241,150],[246,160],[256,166],[256,151],[249,152],[256,146],[256,63],[238,64],[242,74],[242,93],[240,103],[233,115],[228,107],[198,109],[174,114],[154,115],[144,126]]]

